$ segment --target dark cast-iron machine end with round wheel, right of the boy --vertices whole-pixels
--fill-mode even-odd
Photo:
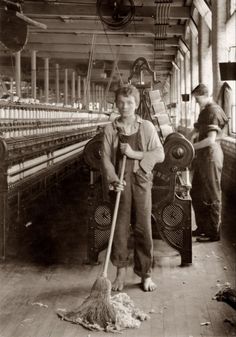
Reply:
[[[192,263],[191,199],[185,171],[194,157],[192,144],[181,134],[172,133],[164,143],[165,160],[156,165],[152,190],[153,214],[157,230],[181,255],[181,265]]]

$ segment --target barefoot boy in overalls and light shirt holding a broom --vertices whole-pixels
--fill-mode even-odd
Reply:
[[[164,160],[164,150],[154,125],[136,114],[139,91],[125,85],[116,91],[116,105],[120,116],[104,130],[102,163],[111,189],[121,190],[111,261],[117,267],[112,289],[124,287],[128,266],[128,237],[131,210],[135,215],[134,272],[140,276],[144,291],[153,291],[151,279],[153,242],[151,230],[152,169]],[[122,156],[127,156],[125,183],[119,183]]]

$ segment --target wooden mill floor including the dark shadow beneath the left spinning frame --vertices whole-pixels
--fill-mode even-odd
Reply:
[[[114,336],[85,330],[56,315],[59,308],[77,307],[101,271],[101,265],[83,264],[85,184],[81,178],[67,184],[60,203],[24,228],[17,255],[11,252],[16,243],[9,247],[8,259],[0,264],[0,337]],[[122,336],[236,336],[236,311],[213,299],[226,282],[236,287],[235,220],[233,206],[224,201],[222,240],[193,242],[193,264],[188,267],[180,267],[178,253],[155,240],[153,278],[158,288],[154,293],[140,289],[130,265],[125,292],[151,318],[140,329],[123,331]],[[111,265],[109,278],[114,275]]]

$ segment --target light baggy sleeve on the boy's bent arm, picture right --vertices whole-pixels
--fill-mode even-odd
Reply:
[[[140,167],[146,172],[151,172],[156,163],[161,163],[165,159],[165,153],[160,138],[154,125],[146,121],[145,138],[147,149],[144,151],[143,159],[140,161]]]

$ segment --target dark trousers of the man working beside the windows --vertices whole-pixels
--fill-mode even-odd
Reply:
[[[220,144],[198,151],[191,197],[199,232],[215,238],[221,224],[221,173],[223,151]]]

